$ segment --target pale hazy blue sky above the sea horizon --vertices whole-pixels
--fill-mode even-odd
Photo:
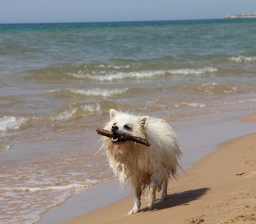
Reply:
[[[0,24],[221,19],[256,0],[0,0]]]

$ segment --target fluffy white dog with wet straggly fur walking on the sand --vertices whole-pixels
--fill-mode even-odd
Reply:
[[[156,201],[156,190],[161,191],[161,200],[167,198],[168,178],[177,177],[181,155],[179,140],[170,125],[160,118],[134,116],[110,109],[110,120],[104,129],[117,134],[131,134],[145,138],[150,147],[134,141],[111,140],[102,137],[108,162],[120,183],[130,182],[134,192],[134,207],[128,214],[140,211],[140,196],[147,186],[148,208]]]

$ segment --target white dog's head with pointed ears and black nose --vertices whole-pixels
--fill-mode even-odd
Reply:
[[[122,134],[145,138],[145,128],[147,127],[149,116],[134,116],[115,109],[110,109],[109,115],[110,121],[106,125],[106,129],[120,136],[120,138],[112,139],[113,142],[122,141]]]

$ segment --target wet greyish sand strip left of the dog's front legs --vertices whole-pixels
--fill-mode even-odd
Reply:
[[[42,215],[39,224],[61,223],[81,216],[84,213],[95,211],[129,196],[131,189],[128,186],[119,188],[118,179],[100,182],[96,186],[83,189],[67,199],[67,201]]]

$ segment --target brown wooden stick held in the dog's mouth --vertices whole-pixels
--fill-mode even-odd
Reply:
[[[147,147],[150,146],[150,144],[147,142],[147,140],[145,140],[144,138],[139,138],[136,136],[132,136],[131,134],[116,134],[114,132],[111,131],[107,131],[104,129],[97,129],[97,133],[109,138],[118,138],[118,140],[130,140],[130,141],[136,141],[138,143],[141,143],[143,145],[147,145]]]

